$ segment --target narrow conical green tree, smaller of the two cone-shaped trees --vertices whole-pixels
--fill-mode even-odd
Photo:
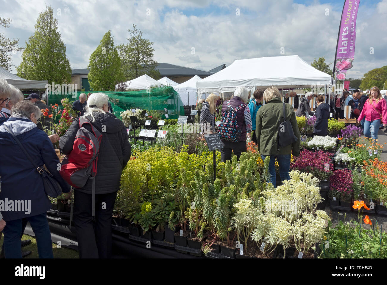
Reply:
[[[90,55],[87,68],[90,69],[87,78],[93,90],[114,91],[115,85],[124,80],[121,60],[114,47],[110,30],[105,33],[99,46]]]

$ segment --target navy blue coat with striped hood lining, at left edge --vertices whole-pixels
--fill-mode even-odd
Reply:
[[[31,122],[28,119],[10,117],[8,121],[21,120]],[[62,192],[70,191],[70,185],[59,175],[57,167],[59,159],[47,134],[33,128],[17,136],[28,154],[38,166],[46,165],[62,187]],[[1,211],[5,221],[26,218],[43,214],[51,209],[51,203],[43,188],[43,180],[32,163],[24,155],[12,135],[8,132],[0,132],[1,149],[1,192],[0,200],[29,200],[30,213],[26,211]]]

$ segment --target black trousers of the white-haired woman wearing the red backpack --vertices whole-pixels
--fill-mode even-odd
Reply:
[[[80,258],[111,257],[111,217],[117,192],[95,195],[95,225],[91,217],[91,194],[75,190],[74,224]]]

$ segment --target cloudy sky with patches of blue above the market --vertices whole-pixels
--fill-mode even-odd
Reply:
[[[109,29],[115,44],[127,43],[137,25],[154,42],[158,62],[209,70],[236,59],[299,55],[308,63],[334,61],[344,0],[0,0],[0,27],[19,45],[33,35],[36,19],[50,5],[58,19],[71,68],[86,68],[89,56]],[[387,65],[387,0],[360,0],[353,68],[361,78]],[[370,54],[370,48],[373,54]],[[21,54],[12,55],[18,66]],[[278,66],[281,68],[281,66]],[[15,67],[12,70],[15,72]]]

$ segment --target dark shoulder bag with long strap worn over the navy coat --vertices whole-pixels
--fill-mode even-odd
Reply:
[[[31,161],[32,165],[36,169],[36,171],[39,172],[39,174],[42,176],[43,179],[43,185],[45,188],[45,193],[53,198],[57,198],[59,195],[62,194],[62,188],[60,187],[58,181],[54,178],[54,176],[48,172],[46,169],[44,169],[41,166],[37,166],[35,162],[31,159],[31,156],[28,154],[26,149],[23,147],[19,139],[15,136],[15,134],[7,127],[5,124],[3,124],[4,128],[7,129],[7,131],[14,137],[15,141],[19,145],[19,147],[22,149],[26,157],[29,161]]]

